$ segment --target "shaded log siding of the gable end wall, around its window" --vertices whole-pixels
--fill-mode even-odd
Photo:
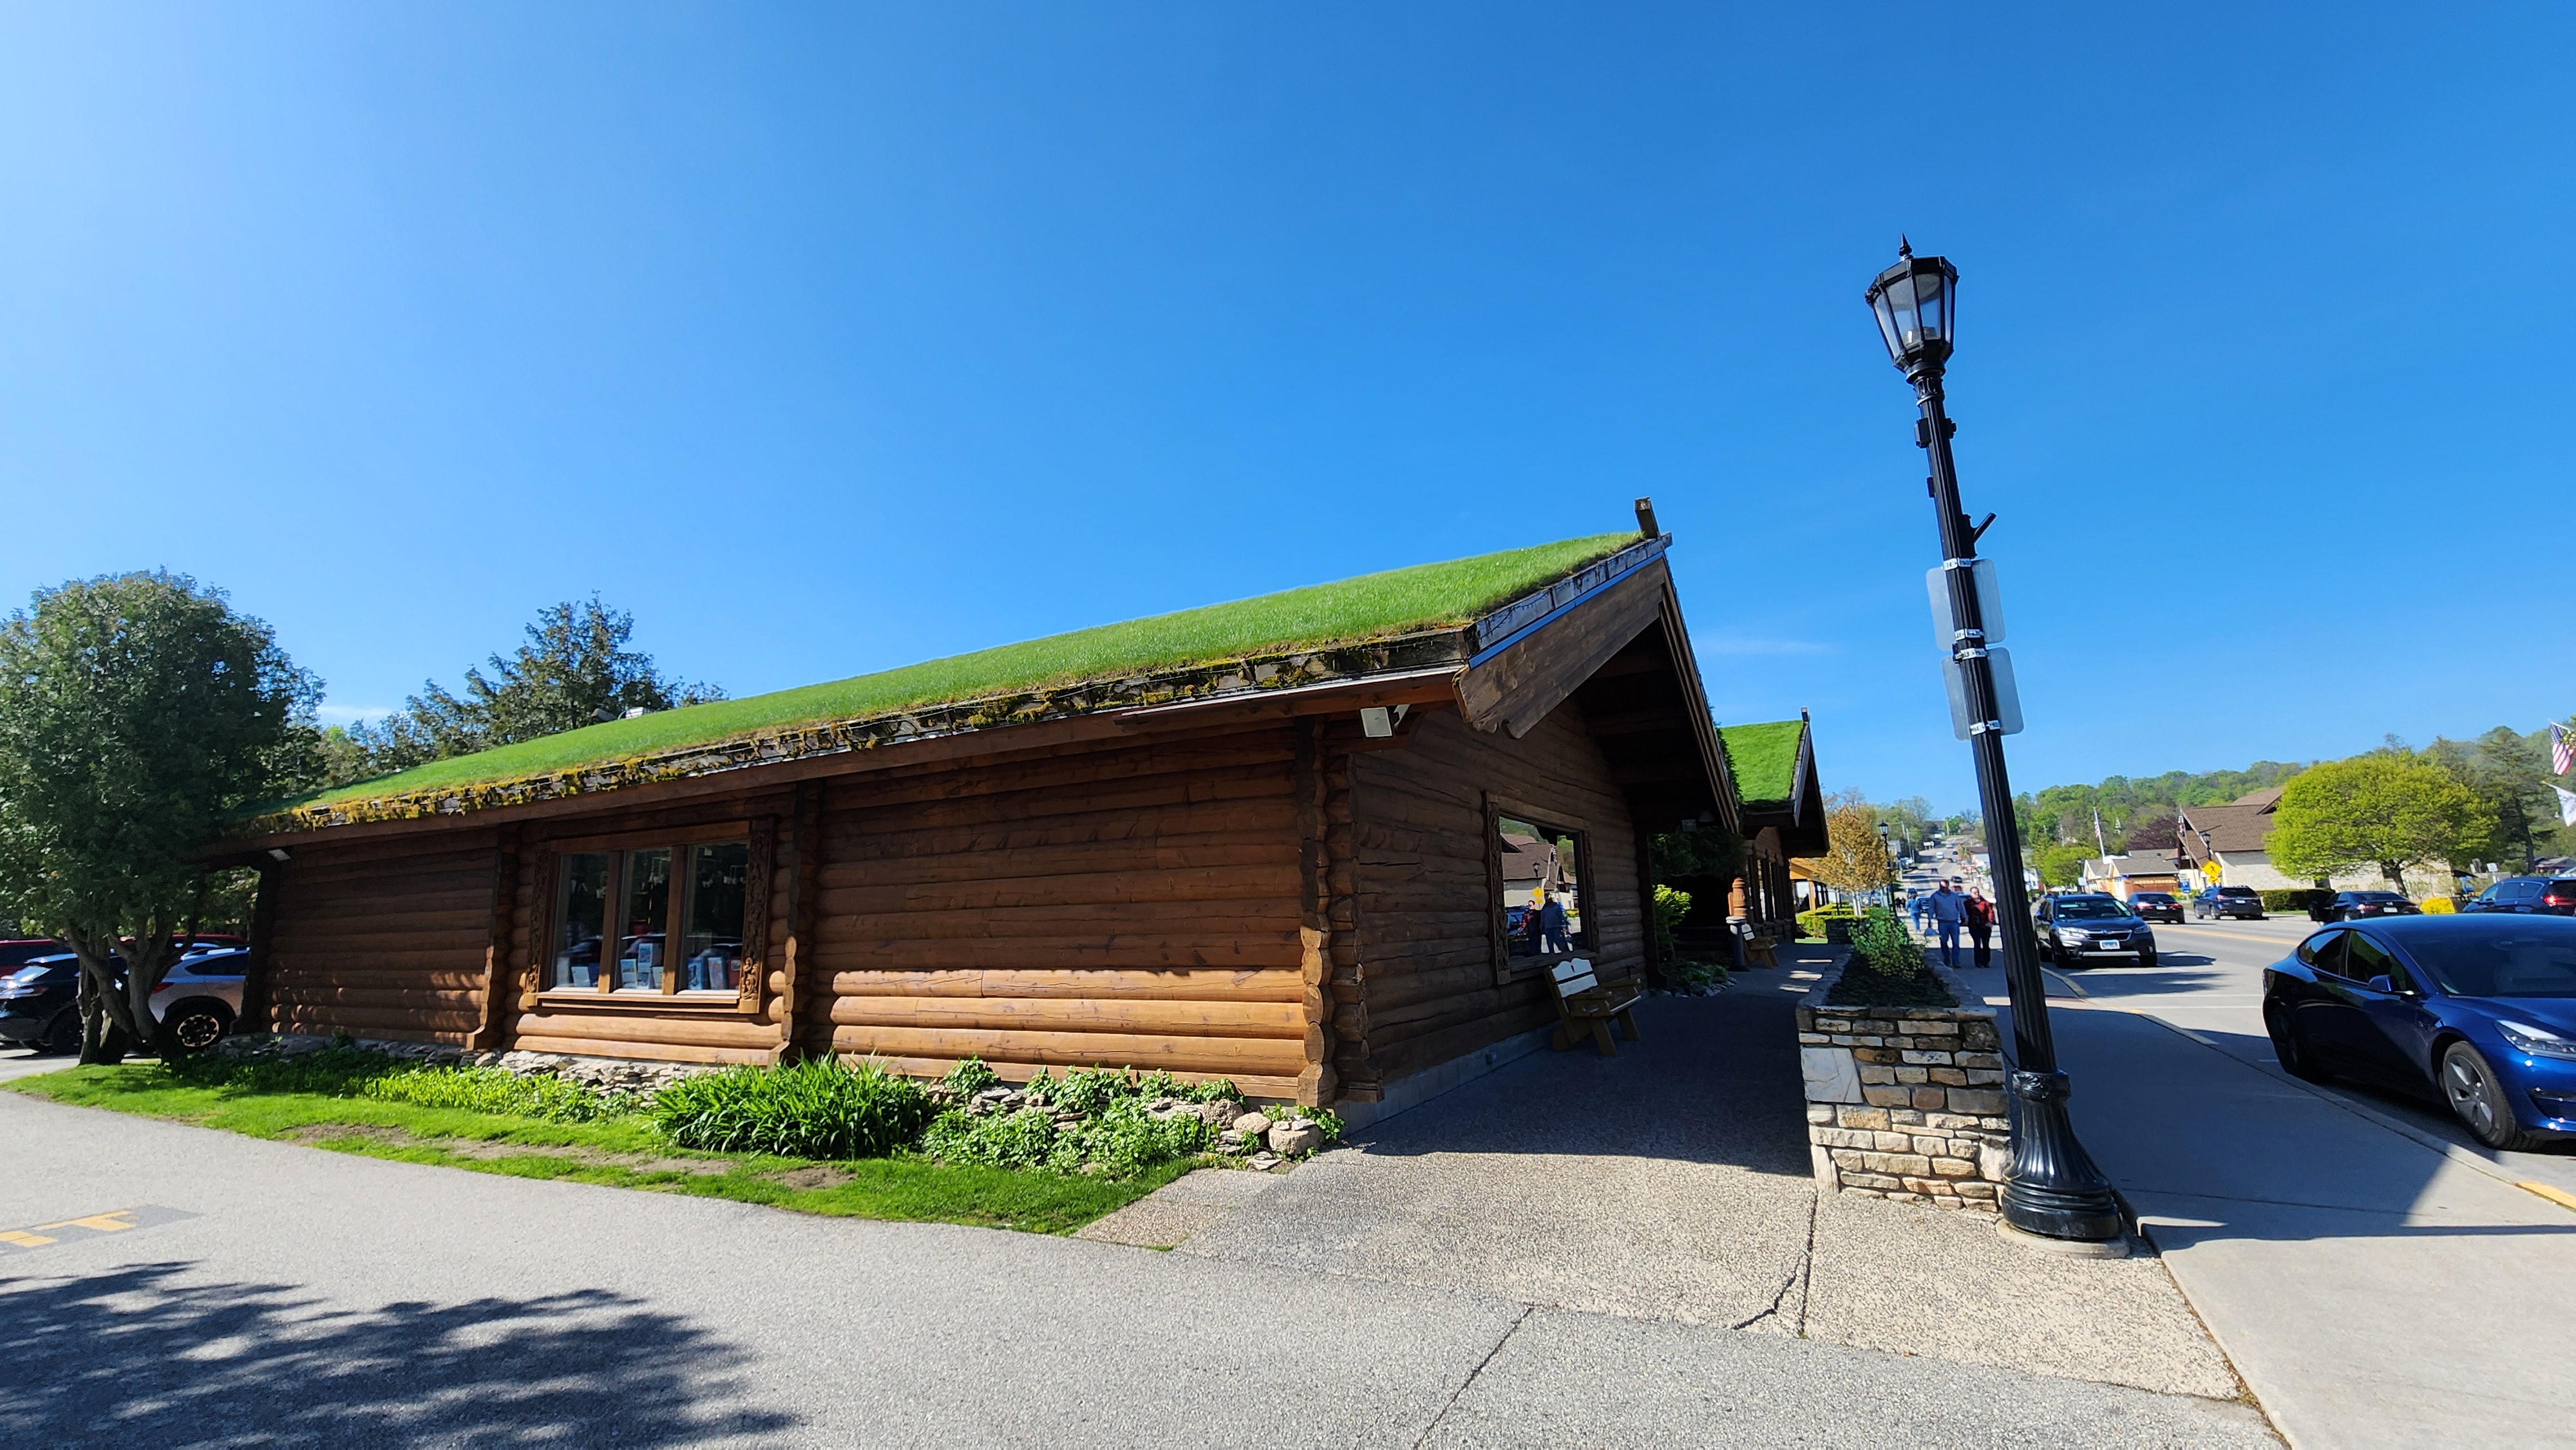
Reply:
[[[1528,737],[1484,734],[1453,711],[1412,724],[1404,749],[1352,755],[1358,961],[1334,968],[1334,1066],[1368,1092],[1553,1017],[1543,974],[1494,986],[1484,796],[1589,832],[1584,914],[1595,958],[1643,971],[1636,832],[1582,713]]]

